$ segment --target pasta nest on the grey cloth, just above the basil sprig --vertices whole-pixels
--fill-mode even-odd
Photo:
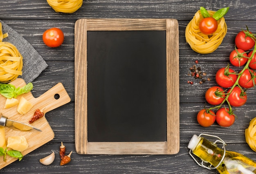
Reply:
[[[22,75],[23,57],[13,44],[0,42],[0,82],[9,83]]]

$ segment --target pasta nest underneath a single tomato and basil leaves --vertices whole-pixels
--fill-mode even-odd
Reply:
[[[209,11],[208,13],[212,16],[215,11]],[[205,35],[199,30],[199,23],[203,19],[200,10],[198,10],[193,19],[186,26],[185,37],[186,42],[189,43],[191,48],[200,54],[208,54],[215,51],[218,46],[222,43],[226,33],[227,24],[225,18],[220,18],[218,22],[218,29],[211,35]]]

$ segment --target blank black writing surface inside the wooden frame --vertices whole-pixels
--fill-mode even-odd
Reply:
[[[88,31],[88,141],[166,141],[166,32]]]

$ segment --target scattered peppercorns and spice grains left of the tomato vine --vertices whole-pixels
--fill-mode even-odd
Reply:
[[[195,61],[195,64],[198,64],[198,60]],[[204,77],[206,76],[206,73],[201,69],[200,66],[197,66],[197,65],[193,65],[193,66],[189,67],[188,75],[194,77],[195,79],[200,79],[199,84],[202,84],[206,81],[211,81],[210,78],[204,79]],[[194,82],[188,81],[188,84],[193,85]]]

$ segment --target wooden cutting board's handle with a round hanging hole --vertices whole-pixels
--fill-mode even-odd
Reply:
[[[42,112],[46,113],[67,104],[70,101],[71,99],[63,84],[58,83],[51,89],[47,90],[43,95],[36,98],[35,105],[38,107],[38,109],[42,110]]]

